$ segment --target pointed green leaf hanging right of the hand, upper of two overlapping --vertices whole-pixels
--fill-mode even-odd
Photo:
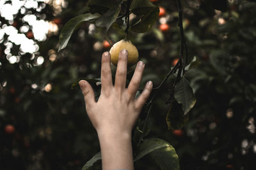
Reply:
[[[174,97],[178,103],[182,104],[184,115],[186,115],[196,103],[193,90],[184,76],[174,89]]]

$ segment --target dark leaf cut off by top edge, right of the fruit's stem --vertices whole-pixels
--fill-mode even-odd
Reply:
[[[131,11],[135,15],[147,15],[154,8],[156,6],[148,0],[133,0],[131,4]]]

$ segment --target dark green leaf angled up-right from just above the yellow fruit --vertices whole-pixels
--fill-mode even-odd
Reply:
[[[151,29],[151,27],[155,24],[159,14],[159,8],[154,8],[154,10],[150,11],[147,15],[143,16],[143,18],[135,25],[132,25],[131,30],[134,32],[147,32]]]

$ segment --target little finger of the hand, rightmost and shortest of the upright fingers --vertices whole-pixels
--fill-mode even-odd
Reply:
[[[144,87],[143,92],[140,94],[140,96],[135,100],[135,107],[138,110],[141,110],[143,105],[146,103],[150,92],[152,91],[153,83],[152,81],[148,81],[147,84]]]

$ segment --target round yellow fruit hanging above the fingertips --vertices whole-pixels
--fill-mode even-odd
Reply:
[[[109,53],[111,55],[111,62],[115,66],[117,65],[119,53],[123,49],[128,51],[127,65],[133,66],[138,61],[139,53],[138,53],[136,46],[134,46],[131,43],[131,41],[126,40],[126,39],[122,39],[122,40],[118,41],[111,47],[111,49],[109,51]]]

